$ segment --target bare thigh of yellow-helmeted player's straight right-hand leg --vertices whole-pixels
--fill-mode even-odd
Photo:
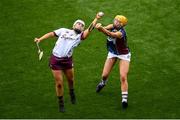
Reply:
[[[119,70],[120,70],[120,75],[121,76],[127,76],[129,72],[129,66],[130,62],[127,60],[120,60],[119,62]]]

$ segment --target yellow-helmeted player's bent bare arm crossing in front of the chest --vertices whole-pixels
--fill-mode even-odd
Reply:
[[[105,29],[105,28],[102,26],[101,23],[98,23],[98,24],[96,25],[96,28],[97,28],[100,32],[104,33],[104,34],[107,35],[107,36],[111,36],[111,37],[114,37],[114,38],[121,38],[121,37],[122,37],[122,33],[121,33],[121,32],[119,32],[119,31],[117,31],[117,32],[110,32],[109,30]]]

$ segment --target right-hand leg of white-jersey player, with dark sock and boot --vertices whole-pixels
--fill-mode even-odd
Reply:
[[[64,70],[64,74],[65,74],[67,81],[68,81],[71,103],[75,104],[76,103],[76,97],[75,97],[75,92],[74,92],[74,68]]]

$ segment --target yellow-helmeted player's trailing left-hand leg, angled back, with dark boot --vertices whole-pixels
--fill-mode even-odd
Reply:
[[[103,72],[102,72],[102,80],[101,82],[97,85],[96,92],[100,92],[101,89],[106,85],[107,78],[116,63],[116,58],[107,58],[106,62],[104,64]]]

